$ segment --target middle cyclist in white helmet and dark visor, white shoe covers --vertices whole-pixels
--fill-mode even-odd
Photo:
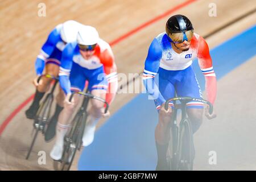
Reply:
[[[114,56],[109,44],[100,39],[97,30],[91,26],[82,26],[77,34],[77,42],[69,43],[61,56],[59,73],[60,86],[64,90],[64,109],[57,119],[56,140],[50,156],[60,160],[64,137],[69,129],[72,114],[81,97],[75,94],[72,101],[69,98],[72,92],[84,90],[85,81],[91,94],[101,97],[109,104],[117,92],[117,73]],[[109,88],[109,84],[110,85]],[[97,121],[104,114],[104,103],[91,100],[82,145],[88,146],[93,142]]]

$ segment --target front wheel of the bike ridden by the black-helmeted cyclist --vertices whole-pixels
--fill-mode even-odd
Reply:
[[[188,118],[181,121],[179,136],[178,164],[181,171],[193,169],[193,133],[191,122]]]

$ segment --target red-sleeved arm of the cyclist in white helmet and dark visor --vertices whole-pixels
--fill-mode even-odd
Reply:
[[[106,93],[106,102],[111,104],[118,89],[117,66],[114,63],[114,55],[111,48],[105,49],[100,55],[101,63],[104,65],[104,72],[108,79],[109,86]]]

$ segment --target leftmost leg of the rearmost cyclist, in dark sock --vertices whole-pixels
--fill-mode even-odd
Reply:
[[[59,60],[51,58],[47,59],[45,73],[52,76],[57,76],[59,74],[59,63]],[[51,81],[51,78],[41,78],[40,84],[36,87],[34,100],[32,101],[30,108],[26,110],[27,118],[32,119],[35,117],[35,114],[39,108],[39,102],[40,100],[42,100],[44,93],[46,93],[47,89],[49,88],[49,84]]]

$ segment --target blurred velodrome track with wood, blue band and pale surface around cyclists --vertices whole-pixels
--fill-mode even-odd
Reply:
[[[0,1],[0,169],[53,169],[48,155],[53,142],[45,143],[41,135],[30,160],[25,160],[32,122],[24,110],[35,92],[36,56],[57,24],[73,19],[96,27],[112,46],[118,73],[128,75],[143,71],[152,39],[164,32],[167,19],[174,14],[187,16],[194,31],[207,40],[218,79],[217,118],[204,119],[195,134],[194,168],[255,170],[254,0]],[[194,64],[197,69],[196,60]],[[196,75],[204,88],[198,69]],[[127,88],[127,80],[120,78],[119,86]],[[100,121],[95,141],[76,155],[72,169],[154,170],[157,112],[153,101],[146,94],[119,93],[110,111],[112,117]],[[46,165],[37,162],[40,150],[47,152]],[[209,164],[210,151],[216,152],[217,164]]]

